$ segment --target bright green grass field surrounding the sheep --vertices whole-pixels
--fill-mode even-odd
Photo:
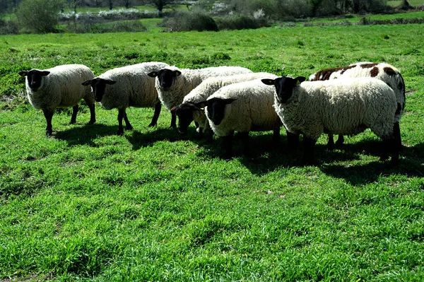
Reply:
[[[423,281],[423,25],[261,28],[219,33],[0,36],[0,279],[4,281]],[[370,131],[317,144],[300,167],[285,132],[250,134],[252,156],[182,138],[163,109],[87,107],[45,119],[18,71],[78,63],[101,74],[165,61],[308,76],[386,61],[406,82],[401,164],[380,163]]]

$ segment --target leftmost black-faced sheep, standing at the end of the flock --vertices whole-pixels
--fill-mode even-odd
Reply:
[[[25,87],[30,104],[42,110],[47,121],[46,135],[52,136],[52,117],[57,107],[72,107],[70,124],[76,123],[78,102],[84,99],[90,108],[90,121],[95,123],[93,91],[81,86],[81,82],[92,79],[94,74],[82,64],[66,64],[51,69],[31,69],[20,71],[25,77]]]

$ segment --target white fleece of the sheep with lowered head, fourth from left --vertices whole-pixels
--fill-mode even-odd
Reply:
[[[232,83],[239,83],[244,81],[252,81],[259,78],[276,78],[277,76],[269,73],[252,73],[252,74],[235,74],[233,76],[218,76],[207,78],[205,81],[194,88],[189,94],[184,97],[182,103],[190,102],[196,104],[206,100],[209,96],[215,93],[218,89],[223,86],[228,86]],[[193,112],[193,120],[199,124],[202,129],[208,129],[208,119],[206,114],[200,111]]]

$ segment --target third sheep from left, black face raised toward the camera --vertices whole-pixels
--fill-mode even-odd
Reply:
[[[172,107],[180,105],[184,96],[206,78],[248,73],[252,71],[241,66],[216,66],[206,69],[178,69],[176,66],[170,66],[160,71],[152,71],[148,76],[155,78],[159,100],[168,110],[171,110]],[[171,112],[171,116],[170,127],[177,127],[175,112]]]

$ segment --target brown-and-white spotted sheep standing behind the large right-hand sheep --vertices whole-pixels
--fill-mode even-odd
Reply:
[[[341,68],[334,69],[323,69],[317,71],[315,74],[310,75],[310,81],[325,81],[329,79],[336,78],[348,78],[348,77],[374,77],[378,78],[385,83],[387,83],[391,89],[394,90],[396,95],[397,109],[394,116],[395,119],[395,128],[394,134],[399,137],[399,146],[401,144],[401,131],[399,128],[399,119],[405,109],[405,82],[401,73],[398,69],[390,64],[385,63],[371,63],[371,62],[359,62],[355,64],[350,64],[349,66],[343,66]],[[336,146],[341,146],[343,144],[343,135],[338,136],[336,141]],[[334,141],[332,134],[329,134],[329,142],[327,143],[328,148],[334,147]]]

